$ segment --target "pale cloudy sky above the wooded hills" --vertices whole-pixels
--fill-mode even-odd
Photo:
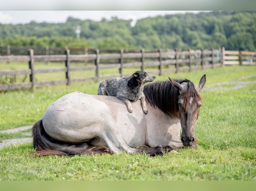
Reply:
[[[168,14],[199,13],[202,11],[0,11],[0,24],[26,24],[31,21],[37,23],[65,23],[68,17],[80,20],[101,21],[111,17],[132,20],[135,25],[138,19],[146,17],[164,16]]]

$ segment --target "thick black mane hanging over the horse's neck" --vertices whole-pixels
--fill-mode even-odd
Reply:
[[[177,79],[175,81],[182,83]],[[145,85],[144,95],[151,106],[158,107],[167,115],[178,115],[179,91],[169,81],[158,81]]]

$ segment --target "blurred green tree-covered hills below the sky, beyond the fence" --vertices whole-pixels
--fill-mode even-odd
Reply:
[[[0,44],[99,49],[209,49],[256,51],[256,11],[212,11],[100,22],[0,24]],[[75,29],[81,29],[77,38]]]

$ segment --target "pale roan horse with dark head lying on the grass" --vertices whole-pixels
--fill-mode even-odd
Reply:
[[[139,101],[131,102],[134,111],[129,113],[126,105],[113,96],[81,92],[64,95],[34,124],[33,146],[39,155],[124,150],[150,156],[162,154],[167,148],[191,146],[202,104],[199,92],[205,83],[206,75],[198,85],[170,78],[146,85],[146,115]],[[141,145],[147,147],[138,147]],[[109,150],[104,150],[106,147]]]

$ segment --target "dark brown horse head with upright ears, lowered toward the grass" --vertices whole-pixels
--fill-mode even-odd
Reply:
[[[203,101],[199,92],[206,83],[206,75],[201,78],[198,85],[190,81],[179,84],[170,78],[169,80],[179,90],[178,112],[182,128],[181,141],[184,146],[191,146],[195,141],[194,131]]]

